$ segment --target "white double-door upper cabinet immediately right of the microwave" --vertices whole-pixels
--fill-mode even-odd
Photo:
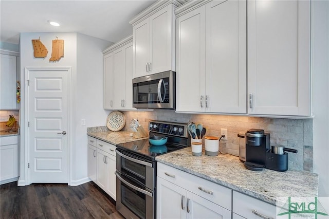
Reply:
[[[193,1],[175,12],[176,111],[246,113],[246,1]]]

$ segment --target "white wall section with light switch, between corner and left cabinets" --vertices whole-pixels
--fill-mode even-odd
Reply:
[[[110,42],[93,38],[88,35],[77,35],[77,78],[75,101],[75,139],[76,148],[73,153],[74,162],[72,179],[87,178],[87,127],[105,125],[108,115],[103,109],[103,53]],[[81,120],[86,120],[86,125],[81,125]],[[75,182],[72,182],[74,185]]]

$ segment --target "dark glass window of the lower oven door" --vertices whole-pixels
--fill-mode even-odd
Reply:
[[[121,203],[139,218],[145,218],[145,194],[121,183]]]

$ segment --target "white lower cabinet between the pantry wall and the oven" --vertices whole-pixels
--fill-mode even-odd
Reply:
[[[116,200],[115,145],[88,137],[88,177]]]

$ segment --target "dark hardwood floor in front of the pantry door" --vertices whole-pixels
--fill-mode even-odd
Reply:
[[[0,186],[1,218],[120,218],[115,201],[94,182],[80,186],[17,182]]]

